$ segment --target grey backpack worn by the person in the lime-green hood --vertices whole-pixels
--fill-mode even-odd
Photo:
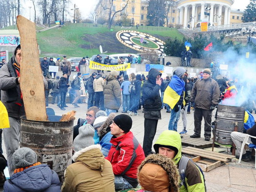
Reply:
[[[183,185],[186,189],[187,189],[187,185],[186,185],[186,182],[185,182],[185,178],[186,178],[186,168],[187,168],[188,161],[193,162],[190,158],[185,157],[185,156],[181,156],[181,158],[180,158],[180,163],[179,163],[179,174],[180,174],[180,180],[181,180],[180,186]],[[193,163],[194,163],[194,162],[193,162]],[[194,163],[194,164],[195,164],[195,163]],[[200,170],[200,172],[201,172],[202,175],[203,175],[203,179],[204,179],[204,190],[205,190],[205,192],[206,192],[206,185],[205,185],[204,173],[203,173],[201,167],[199,167],[197,164],[195,164],[195,165],[197,166],[197,168]]]

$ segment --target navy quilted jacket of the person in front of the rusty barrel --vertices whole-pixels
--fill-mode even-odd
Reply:
[[[60,192],[60,180],[57,173],[48,165],[36,165],[15,173],[4,183],[6,192]]]

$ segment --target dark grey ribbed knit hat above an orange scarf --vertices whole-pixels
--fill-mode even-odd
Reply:
[[[12,155],[12,163],[14,167],[28,167],[37,162],[36,152],[30,148],[22,147],[16,150]]]

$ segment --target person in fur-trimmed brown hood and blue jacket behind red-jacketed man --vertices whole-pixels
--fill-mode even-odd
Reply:
[[[110,132],[110,125],[115,118],[116,113],[110,113],[105,123],[98,129],[98,135],[100,136],[101,152],[105,157],[108,156],[108,152],[112,146],[110,139],[113,135]]]

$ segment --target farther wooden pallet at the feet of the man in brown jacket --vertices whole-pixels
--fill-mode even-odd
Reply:
[[[182,145],[192,146],[196,148],[207,148],[212,146],[212,139],[210,141],[205,141],[204,138],[190,138],[189,135],[182,135],[181,138]]]

